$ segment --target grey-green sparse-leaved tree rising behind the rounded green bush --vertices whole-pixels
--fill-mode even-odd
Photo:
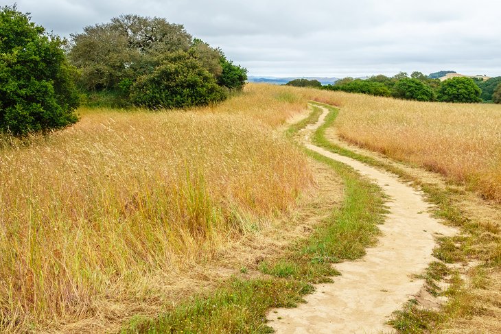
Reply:
[[[117,88],[121,80],[151,73],[163,53],[188,51],[191,46],[182,25],[137,15],[84,27],[71,38],[69,59],[82,71],[80,81],[87,90]]]

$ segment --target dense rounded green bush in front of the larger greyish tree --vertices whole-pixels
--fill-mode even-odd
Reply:
[[[214,77],[187,53],[167,56],[151,74],[137,79],[130,97],[133,104],[148,108],[185,108],[226,99]]]

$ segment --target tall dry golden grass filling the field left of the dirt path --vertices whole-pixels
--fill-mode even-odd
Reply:
[[[162,302],[165,278],[286,211],[312,178],[272,128],[303,105],[250,86],[213,108],[81,109],[49,137],[4,137],[0,331]]]

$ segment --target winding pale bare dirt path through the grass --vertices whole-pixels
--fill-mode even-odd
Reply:
[[[334,283],[317,285],[316,292],[306,296],[306,304],[272,310],[270,326],[277,333],[391,333],[385,324],[391,313],[423,286],[424,281],[412,276],[433,261],[434,237],[452,235],[454,230],[431,217],[423,194],[397,176],[312,145],[310,135],[327,112],[323,108],[318,123],[304,130],[305,146],[373,180],[391,198],[389,213],[376,247],[358,261],[336,264],[341,276]]]

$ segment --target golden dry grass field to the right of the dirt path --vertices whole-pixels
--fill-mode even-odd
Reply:
[[[501,202],[501,105],[290,91],[338,106],[334,126],[342,139],[439,172]]]

